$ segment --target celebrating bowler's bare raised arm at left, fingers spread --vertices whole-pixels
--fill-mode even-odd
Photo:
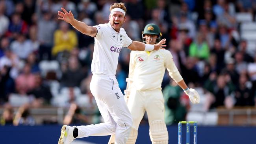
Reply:
[[[60,20],[64,20],[65,22],[68,22],[69,24],[71,24],[74,28],[76,28],[76,30],[80,31],[81,33],[85,34],[85,35],[89,35],[91,37],[95,37],[97,34],[97,28],[93,27],[93,26],[88,26],[87,24],[85,24],[84,22],[80,22],[78,20],[76,20],[74,18],[74,15],[72,14],[71,11],[69,11],[69,13],[63,8],[61,7],[61,11],[58,11],[58,15],[59,15],[59,19]]]

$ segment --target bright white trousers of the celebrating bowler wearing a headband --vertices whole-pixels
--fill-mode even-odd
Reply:
[[[77,138],[115,134],[115,144],[125,144],[130,135],[132,116],[117,79],[115,76],[94,74],[90,89],[104,123],[78,126]]]

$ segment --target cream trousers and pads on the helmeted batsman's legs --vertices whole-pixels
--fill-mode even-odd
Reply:
[[[152,144],[168,144],[168,131],[164,122],[164,99],[160,89],[139,91],[132,89],[126,100],[132,114],[132,132],[126,144],[134,144],[137,130],[145,111],[150,126],[150,140]]]

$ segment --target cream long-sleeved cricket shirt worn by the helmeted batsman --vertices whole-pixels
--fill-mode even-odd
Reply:
[[[170,51],[162,49],[152,52],[132,51],[129,80],[133,81],[132,85],[137,90],[161,89],[165,68],[174,81],[180,82],[183,79]]]

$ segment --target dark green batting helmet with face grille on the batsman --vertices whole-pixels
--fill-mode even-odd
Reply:
[[[142,31],[142,41],[146,43],[145,34],[148,35],[157,35],[158,38],[156,39],[156,42],[160,42],[162,33],[160,32],[160,28],[156,24],[147,24],[145,26],[144,31]]]

